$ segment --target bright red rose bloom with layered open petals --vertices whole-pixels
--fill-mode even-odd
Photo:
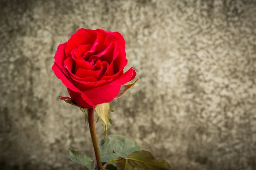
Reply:
[[[123,71],[128,61],[119,32],[81,28],[58,46],[54,59],[52,71],[81,108],[111,102],[136,76],[134,68]]]

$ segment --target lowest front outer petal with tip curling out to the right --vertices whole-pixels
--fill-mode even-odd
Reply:
[[[111,102],[119,93],[121,85],[130,81],[133,77],[134,68],[130,68],[121,77],[115,81],[103,85],[98,88],[93,88],[88,91],[83,91],[83,93],[93,102],[94,105],[99,105],[106,102]]]

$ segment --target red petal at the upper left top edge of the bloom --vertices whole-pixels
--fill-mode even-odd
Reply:
[[[80,28],[76,33],[72,34],[67,41],[67,47],[65,49],[66,56],[70,57],[70,52],[80,45],[93,45],[97,34],[98,32],[95,30]]]

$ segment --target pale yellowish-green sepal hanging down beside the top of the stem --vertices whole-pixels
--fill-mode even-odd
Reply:
[[[100,119],[102,119],[103,130],[106,131],[105,138],[102,141],[102,144],[104,144],[105,140],[108,136],[108,118],[109,118],[109,110],[110,110],[109,103],[102,103],[100,105],[97,105],[95,110],[96,110],[98,116],[100,117]]]

